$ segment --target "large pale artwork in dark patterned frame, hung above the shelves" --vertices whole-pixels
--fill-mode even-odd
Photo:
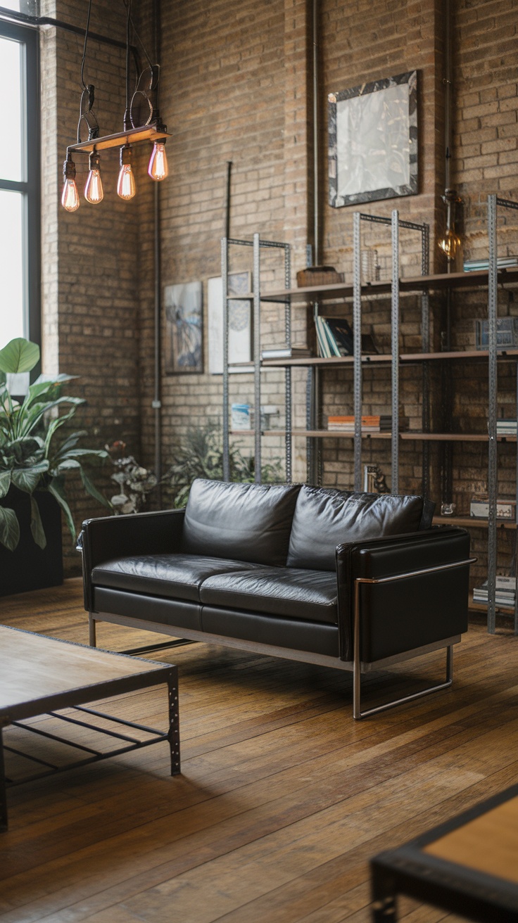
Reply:
[[[417,192],[417,71],[330,93],[329,201],[335,208]]]

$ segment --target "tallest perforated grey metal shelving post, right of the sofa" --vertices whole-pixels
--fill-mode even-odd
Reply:
[[[488,196],[488,632],[496,628],[497,575],[497,197]]]

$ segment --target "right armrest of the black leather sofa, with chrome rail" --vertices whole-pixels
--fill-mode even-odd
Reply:
[[[357,588],[364,663],[404,653],[467,629],[469,534],[440,526],[426,532],[339,545],[336,551],[341,656],[354,657]],[[459,567],[447,567],[458,562]],[[440,570],[424,573],[428,569]]]

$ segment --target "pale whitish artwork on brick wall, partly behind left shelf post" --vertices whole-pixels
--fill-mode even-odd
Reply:
[[[251,287],[250,272],[229,272],[228,292],[232,295],[248,294]],[[207,283],[209,305],[209,372],[223,375],[223,280],[221,276]],[[252,303],[249,299],[231,301],[228,315],[228,361],[252,361]],[[229,367],[230,373],[251,372],[239,365]]]

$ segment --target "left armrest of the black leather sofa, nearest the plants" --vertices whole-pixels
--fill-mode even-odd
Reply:
[[[114,557],[177,551],[185,513],[185,509],[163,509],[85,520],[78,539],[83,559],[85,609],[91,610],[91,571],[94,567]]]

